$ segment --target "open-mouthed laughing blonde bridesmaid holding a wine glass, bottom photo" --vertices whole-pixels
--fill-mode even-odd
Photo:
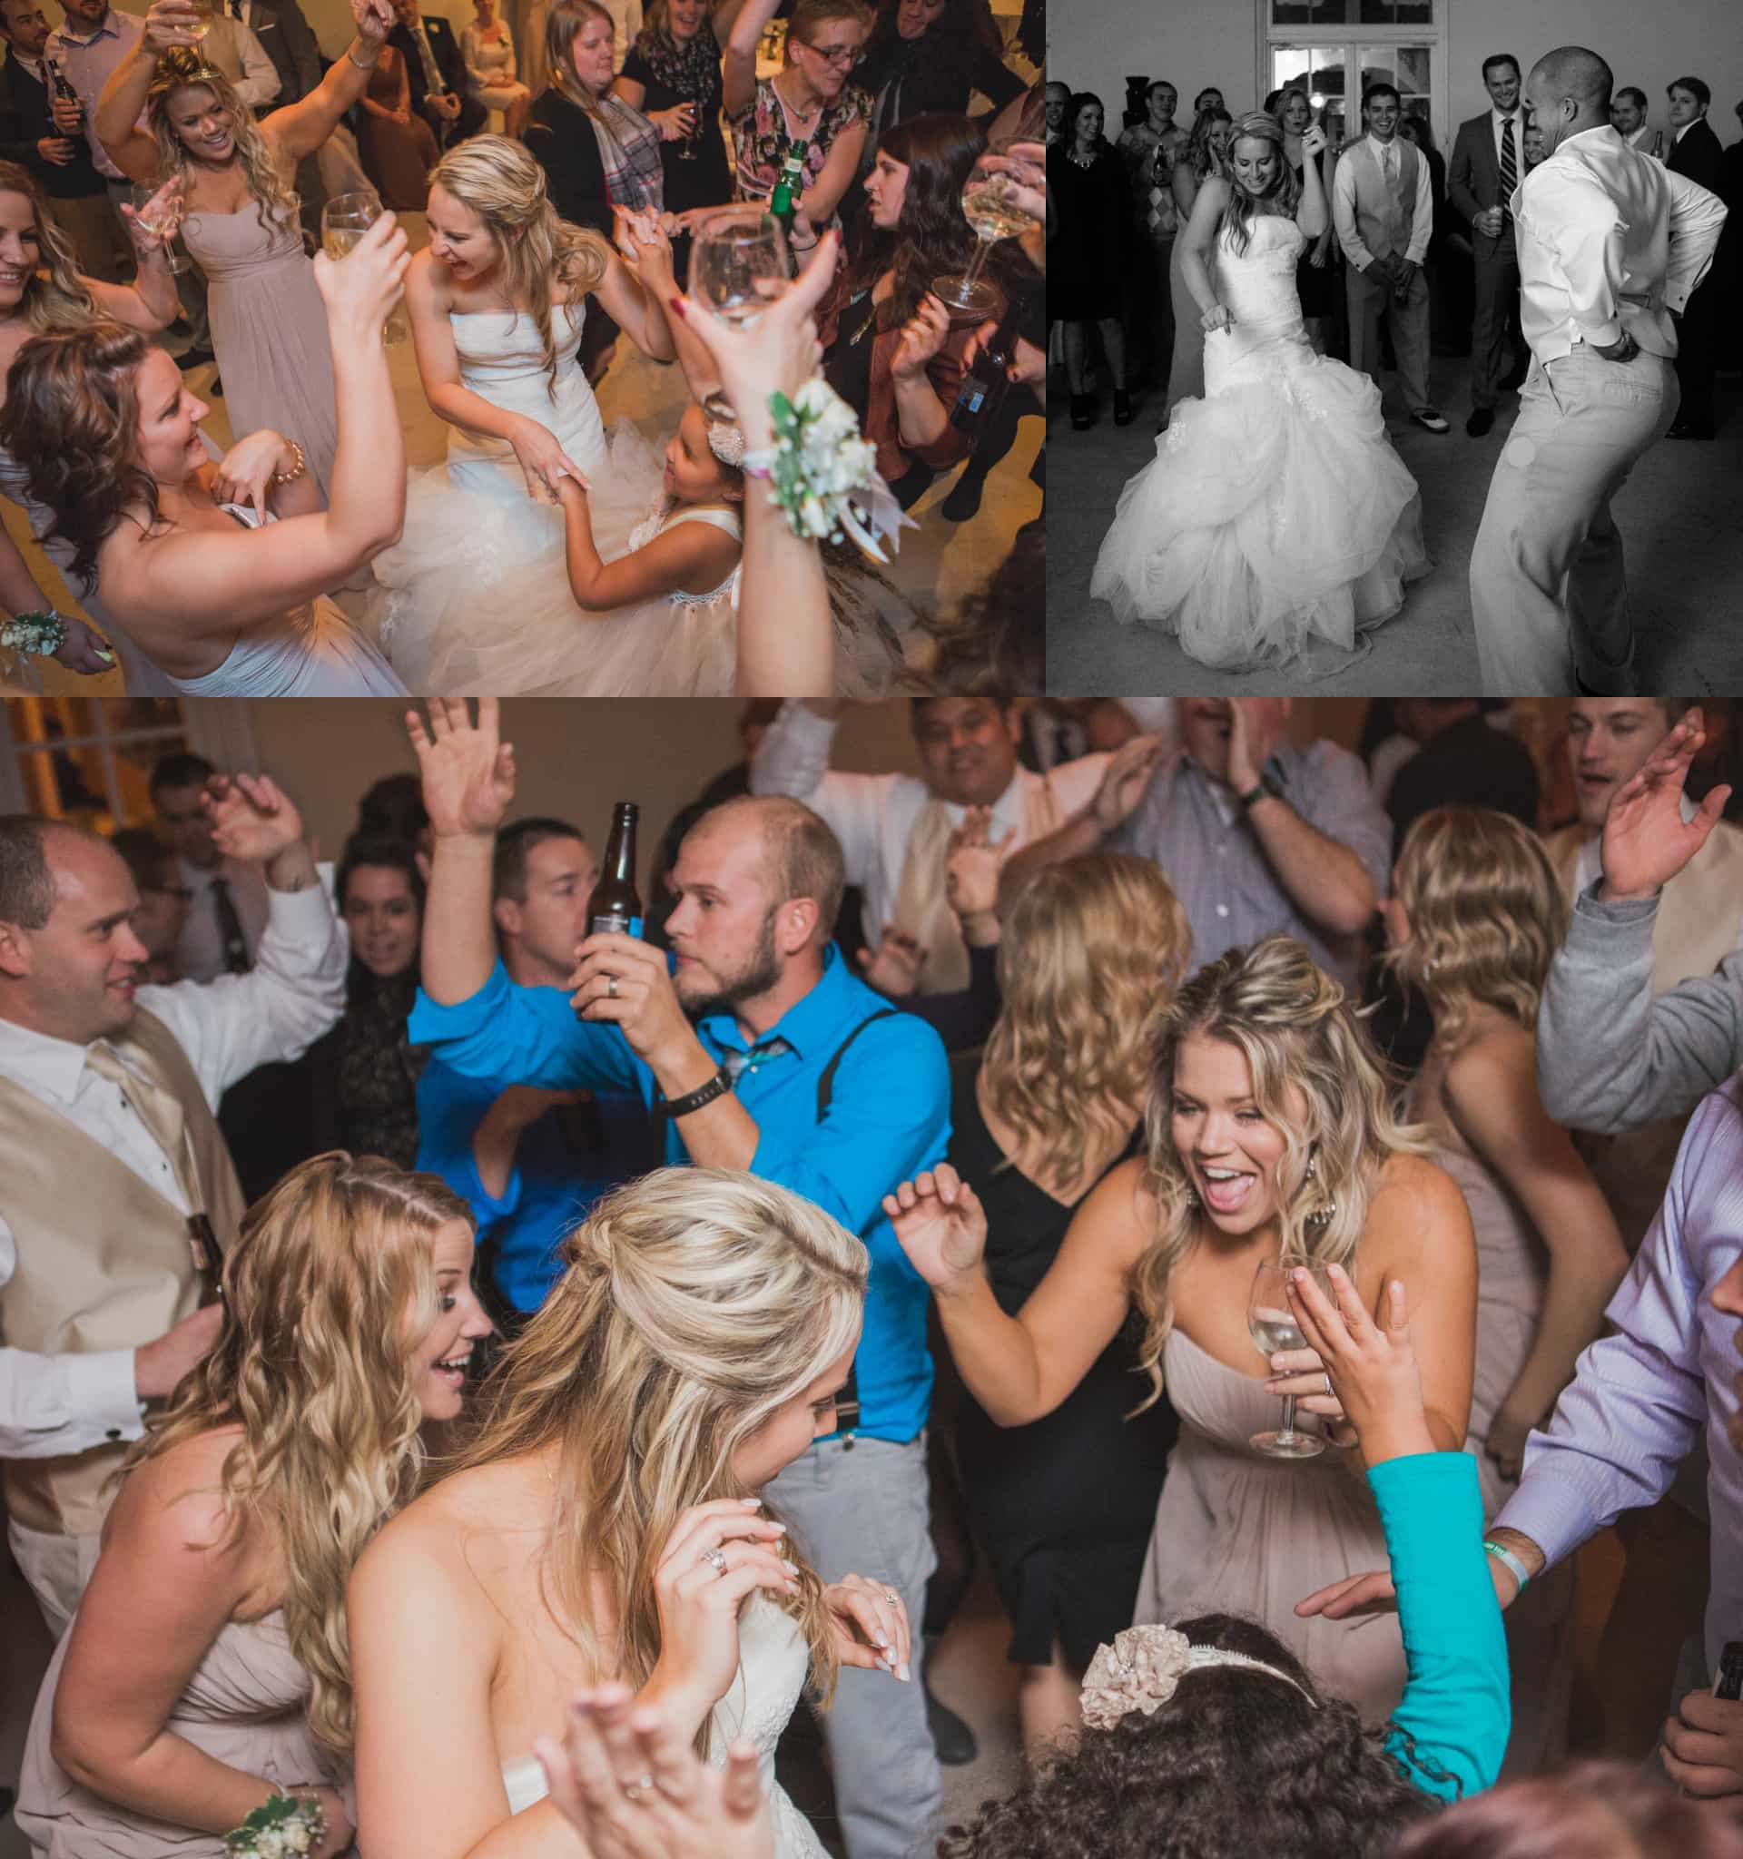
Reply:
[[[1147,1153],[1089,1192],[1015,1316],[987,1275],[979,1195],[955,1169],[903,1182],[885,1201],[933,1286],[963,1381],[1000,1426],[1059,1407],[1139,1312],[1139,1361],[1150,1394],[1165,1389],[1180,1415],[1180,1443],[1135,1617],[1249,1614],[1370,1721],[1388,1718],[1403,1690],[1396,1617],[1299,1619],[1293,1602],[1383,1563],[1379,1515],[1317,1355],[1267,1365],[1247,1331],[1247,1298],[1258,1268],[1284,1251],[1349,1268],[1370,1311],[1386,1283],[1403,1283],[1429,1430],[1438,1450],[1459,1450],[1475,1242],[1457,1186],[1427,1149],[1427,1136],[1394,1115],[1343,989],[1301,943],[1269,937],[1200,969],[1174,996],[1150,1078]],[[1282,1394],[1327,1422],[1323,1456],[1251,1450],[1252,1433],[1275,1428]]]

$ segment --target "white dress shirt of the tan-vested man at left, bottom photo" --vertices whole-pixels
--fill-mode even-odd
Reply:
[[[256,1065],[307,1052],[346,1006],[349,943],[325,885],[269,896],[268,931],[249,974],[138,993],[138,1004],[175,1034],[214,1110],[225,1089]],[[126,1106],[119,1086],[85,1065],[85,1047],[0,1021],[0,1075],[188,1212],[169,1158]],[[0,1205],[4,1199],[0,1190]],[[0,1286],[11,1281],[17,1260],[11,1227],[0,1212]],[[113,1437],[138,1439],[141,1431],[132,1350],[33,1355],[0,1348],[0,1459],[52,1459]]]

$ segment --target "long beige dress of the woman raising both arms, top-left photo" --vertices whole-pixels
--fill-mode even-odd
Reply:
[[[338,450],[327,310],[303,229],[260,221],[253,201],[234,214],[188,214],[182,240],[206,273],[230,431],[243,439],[269,426],[294,439],[325,500]]]

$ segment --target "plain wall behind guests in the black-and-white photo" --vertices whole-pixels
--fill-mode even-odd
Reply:
[[[1723,143],[1737,139],[1734,104],[1743,100],[1743,7],[1737,0],[1440,0],[1448,45],[1446,121],[1455,128],[1487,108],[1481,65],[1490,52],[1531,63],[1557,45],[1589,45],[1637,84],[1654,126],[1665,126],[1665,86],[1695,74],[1713,87],[1711,123]],[[1206,84],[1219,84],[1236,115],[1264,102],[1260,7],[1254,0],[1054,0],[1048,13],[1048,76],[1094,91],[1113,123],[1126,76],[1167,78],[1180,89],[1180,119]],[[1293,28],[1299,37],[1340,28]],[[1360,28],[1349,28],[1358,32]]]

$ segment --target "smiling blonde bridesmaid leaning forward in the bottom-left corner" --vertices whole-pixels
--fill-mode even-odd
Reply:
[[[54,1859],[223,1859],[275,1794],[351,1844],[346,1580],[491,1324],[433,1175],[316,1156],[243,1220],[225,1322],[124,1467],[37,1697],[19,1827]]]

